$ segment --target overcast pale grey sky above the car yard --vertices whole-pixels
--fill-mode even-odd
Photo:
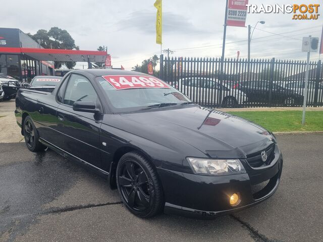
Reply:
[[[19,28],[25,33],[51,27],[66,29],[82,50],[108,47],[112,65],[131,70],[153,54],[160,54],[155,43],[155,0],[104,1],[5,1],[1,3],[1,27]],[[321,1],[257,1],[249,4],[321,4]],[[220,57],[222,54],[225,0],[163,0],[162,49],[174,51],[172,57]],[[302,37],[320,37],[323,24],[317,20],[292,20],[292,14],[250,13],[246,26],[258,24],[251,41],[251,58],[305,59],[301,52]],[[268,33],[270,32],[270,33]],[[227,27],[225,57],[247,57],[245,27]],[[281,34],[281,35],[275,35]],[[282,36],[283,35],[283,36]],[[286,37],[284,37],[286,36]],[[311,60],[318,59],[311,54]],[[77,63],[75,68],[87,68]]]

